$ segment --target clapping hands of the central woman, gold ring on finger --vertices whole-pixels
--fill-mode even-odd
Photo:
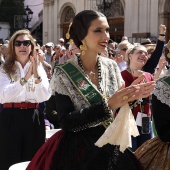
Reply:
[[[117,109],[128,102],[137,99],[146,98],[151,95],[155,87],[155,81],[148,83],[141,83],[138,85],[131,85],[124,89],[118,90],[110,99],[108,105],[110,109]]]

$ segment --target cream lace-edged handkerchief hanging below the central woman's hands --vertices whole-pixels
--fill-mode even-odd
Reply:
[[[107,143],[119,145],[120,151],[124,152],[126,148],[132,147],[131,136],[138,136],[139,132],[132,111],[128,104],[122,106],[115,120],[105,130],[104,134],[95,143],[102,147]]]

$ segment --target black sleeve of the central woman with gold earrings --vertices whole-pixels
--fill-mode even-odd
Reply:
[[[103,102],[76,111],[69,96],[56,93],[56,111],[62,129],[81,131],[109,119]]]

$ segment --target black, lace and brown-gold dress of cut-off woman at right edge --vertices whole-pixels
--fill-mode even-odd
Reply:
[[[170,77],[156,82],[152,110],[158,136],[137,149],[135,155],[144,170],[170,170]]]

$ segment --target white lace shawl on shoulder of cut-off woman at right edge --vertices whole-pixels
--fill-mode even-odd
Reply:
[[[165,76],[156,81],[153,94],[158,100],[170,107],[170,76]]]

